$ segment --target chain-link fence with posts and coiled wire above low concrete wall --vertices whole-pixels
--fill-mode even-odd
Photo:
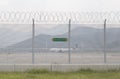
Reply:
[[[0,64],[120,63],[119,12],[0,12]]]

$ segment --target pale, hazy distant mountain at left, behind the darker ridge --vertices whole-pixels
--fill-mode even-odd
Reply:
[[[57,28],[56,28],[57,26]],[[66,25],[35,24],[35,35],[58,35],[65,33]],[[59,30],[59,31],[58,31]],[[4,48],[32,37],[32,24],[0,24],[0,48]]]

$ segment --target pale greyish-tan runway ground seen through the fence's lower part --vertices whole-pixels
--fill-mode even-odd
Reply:
[[[107,63],[120,63],[120,53],[106,53]],[[68,64],[68,53],[34,53],[35,64]],[[0,64],[31,64],[32,53],[0,53]],[[80,52],[70,54],[71,64],[104,63],[103,52]]]

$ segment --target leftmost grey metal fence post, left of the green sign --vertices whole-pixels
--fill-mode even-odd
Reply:
[[[34,64],[34,39],[35,39],[35,23],[34,23],[34,19],[32,19],[32,64]]]

